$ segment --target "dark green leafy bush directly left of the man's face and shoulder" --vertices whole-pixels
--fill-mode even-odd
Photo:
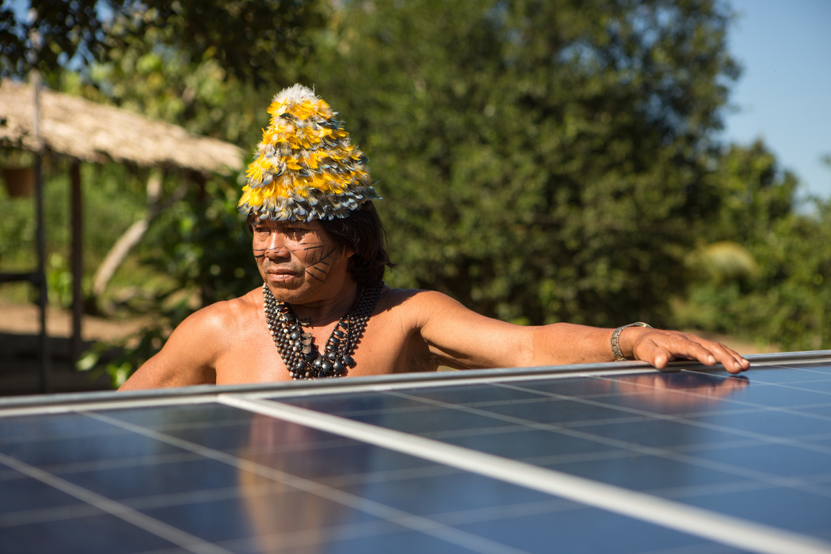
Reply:
[[[262,283],[237,201],[236,183],[209,179],[204,190],[191,190],[151,223],[139,255],[166,280],[150,298],[128,301],[130,309],[152,314],[151,322],[135,337],[87,352],[82,370],[106,371],[119,386],[194,309],[242,296]]]

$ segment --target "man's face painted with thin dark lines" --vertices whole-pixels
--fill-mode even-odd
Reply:
[[[337,244],[316,220],[255,220],[252,231],[260,275],[278,301],[325,301],[347,287],[352,252]]]

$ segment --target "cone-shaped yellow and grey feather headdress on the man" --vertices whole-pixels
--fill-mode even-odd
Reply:
[[[349,143],[337,112],[302,85],[274,96],[239,211],[260,219],[345,218],[372,189],[366,156]]]

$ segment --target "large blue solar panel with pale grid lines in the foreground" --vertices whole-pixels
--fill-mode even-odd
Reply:
[[[0,400],[0,552],[831,552],[831,351]]]

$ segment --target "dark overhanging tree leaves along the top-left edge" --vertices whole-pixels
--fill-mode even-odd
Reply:
[[[28,0],[27,17],[18,19],[4,2],[0,75],[86,66],[164,29],[160,45],[191,61],[213,57],[229,74],[262,83],[309,55],[308,32],[325,22],[325,6],[321,0]]]

